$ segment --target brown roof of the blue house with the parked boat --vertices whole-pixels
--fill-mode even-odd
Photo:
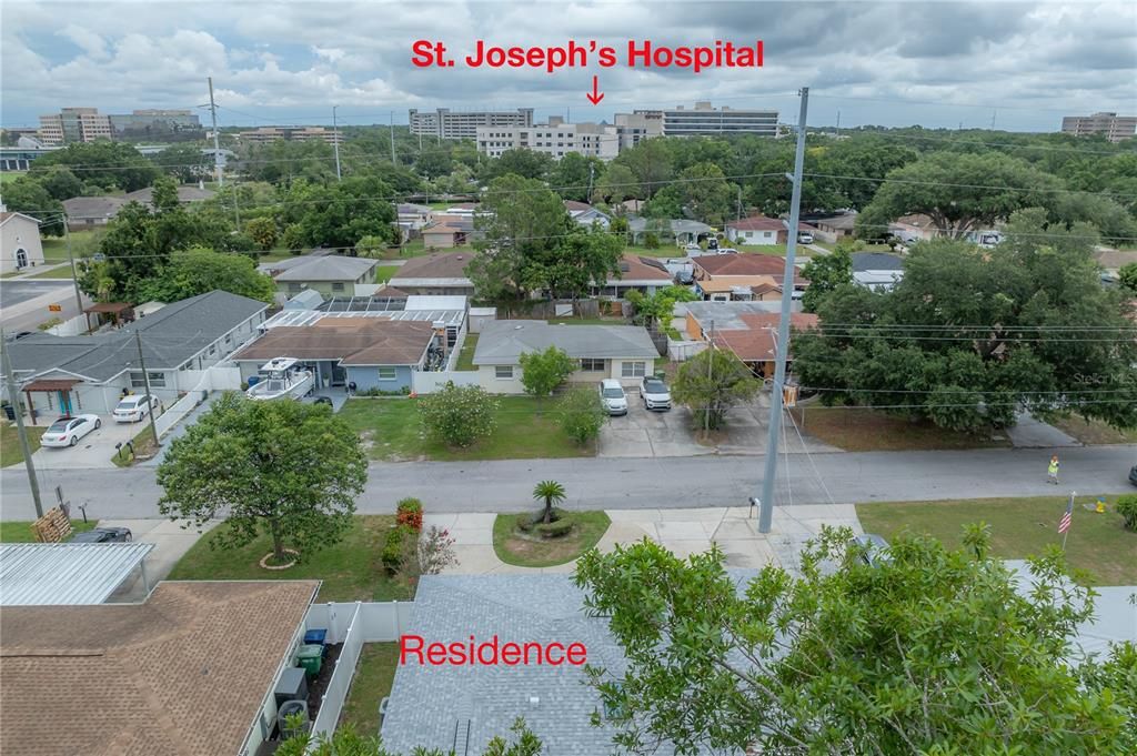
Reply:
[[[343,365],[415,365],[434,330],[422,321],[384,317],[324,317],[313,325],[269,329],[233,359],[338,359]]]

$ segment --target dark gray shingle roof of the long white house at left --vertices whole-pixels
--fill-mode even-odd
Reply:
[[[125,369],[136,369],[135,331],[142,333],[147,369],[176,369],[267,307],[256,299],[217,290],[166,305],[109,333],[92,337],[36,333],[7,348],[11,350],[14,368],[22,380],[59,369],[91,381],[109,381]]]

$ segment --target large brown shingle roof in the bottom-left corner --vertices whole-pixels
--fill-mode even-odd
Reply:
[[[146,604],[6,607],[0,753],[239,753],[318,584],[163,582]]]

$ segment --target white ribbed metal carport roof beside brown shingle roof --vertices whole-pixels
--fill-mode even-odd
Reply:
[[[2,543],[0,606],[102,604],[152,548],[153,543]]]

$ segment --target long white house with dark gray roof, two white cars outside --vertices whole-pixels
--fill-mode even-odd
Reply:
[[[124,392],[150,392],[166,405],[194,389],[202,371],[256,337],[268,305],[210,291],[93,335],[35,333],[5,344],[19,384],[13,404],[48,421],[74,413],[109,414]],[[135,333],[141,335],[146,374]]]

